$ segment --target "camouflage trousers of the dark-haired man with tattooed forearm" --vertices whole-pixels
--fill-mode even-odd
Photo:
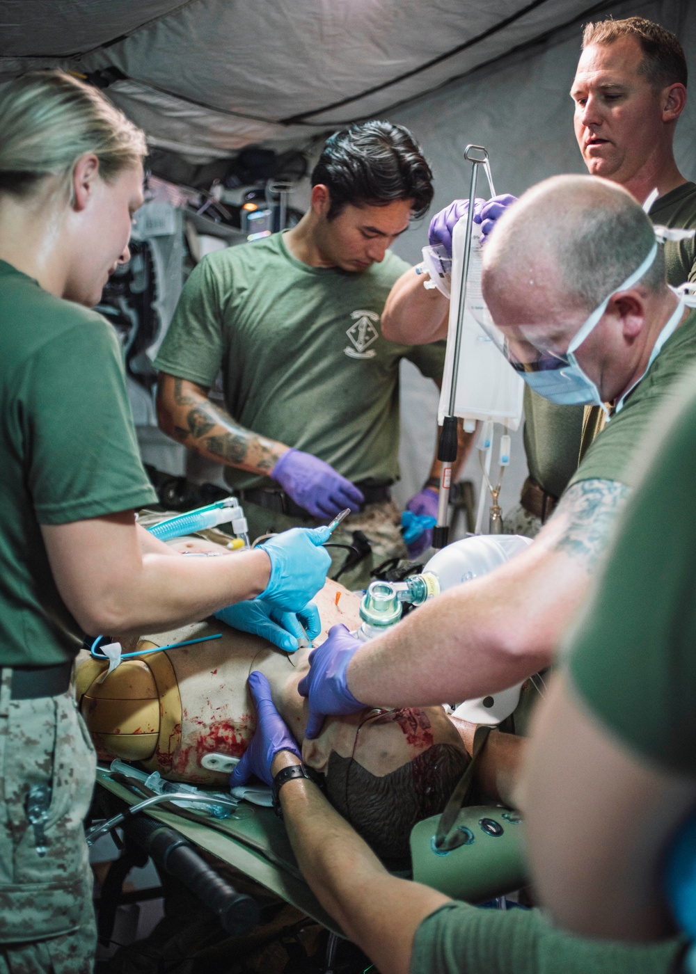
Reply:
[[[242,506],[249,521],[249,535],[251,541],[259,535],[271,531],[287,531],[289,528],[315,528],[318,524],[326,524],[318,518],[289,517],[273,510],[267,510],[255,504],[243,501]],[[372,546],[370,557],[364,558],[354,569],[341,575],[338,581],[346,588],[367,588],[372,581],[369,573],[373,568],[387,558],[407,558],[406,545],[401,533],[402,515],[393,501],[380,501],[379,504],[368,504],[365,510],[358,514],[351,514],[336,528],[331,535],[331,541],[337,544],[349,544],[354,531],[364,532],[367,541]],[[332,578],[343,564],[347,552],[342,548],[329,548],[331,567],[329,578]]]

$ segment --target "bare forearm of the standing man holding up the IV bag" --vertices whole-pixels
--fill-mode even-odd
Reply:
[[[423,287],[413,268],[394,284],[382,312],[382,335],[402,345],[429,345],[447,337],[449,302],[437,288]]]

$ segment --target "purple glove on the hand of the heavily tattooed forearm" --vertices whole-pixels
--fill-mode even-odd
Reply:
[[[356,513],[365,498],[350,480],[319,457],[301,450],[288,450],[271,472],[295,504],[315,517],[335,517],[346,507]]]

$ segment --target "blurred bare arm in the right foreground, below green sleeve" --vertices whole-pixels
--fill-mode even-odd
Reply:
[[[563,673],[535,714],[519,794],[534,886],[560,926],[615,940],[672,933],[661,879],[696,799],[692,775],[634,751]]]

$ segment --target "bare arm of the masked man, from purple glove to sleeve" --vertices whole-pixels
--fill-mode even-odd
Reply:
[[[529,547],[450,589],[353,656],[348,688],[371,706],[425,706],[496,693],[552,661],[582,604],[628,489],[583,480]]]

